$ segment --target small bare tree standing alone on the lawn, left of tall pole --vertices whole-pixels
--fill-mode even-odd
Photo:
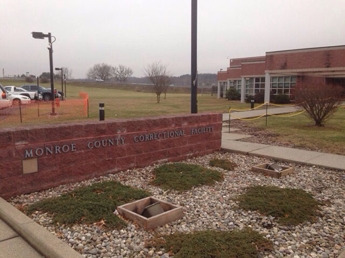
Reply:
[[[160,62],[148,64],[145,68],[147,78],[153,83],[154,92],[157,95],[157,103],[160,101],[160,94],[167,92],[170,84],[170,72],[167,70],[168,65]]]

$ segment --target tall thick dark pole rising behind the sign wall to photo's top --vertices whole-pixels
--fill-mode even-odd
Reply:
[[[192,0],[192,32],[191,32],[191,113],[198,113],[197,92],[197,14],[198,1]]]

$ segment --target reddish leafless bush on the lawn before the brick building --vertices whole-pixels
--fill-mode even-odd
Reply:
[[[340,106],[342,87],[324,83],[304,82],[296,87],[296,104],[306,110],[315,125],[323,126]]]

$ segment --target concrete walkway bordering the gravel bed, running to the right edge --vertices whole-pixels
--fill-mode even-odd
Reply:
[[[246,138],[246,135],[222,133],[221,148],[226,151],[240,152],[247,155],[269,158],[272,160],[300,163],[310,166],[345,171],[345,156],[324,152],[270,146],[260,143],[241,142],[234,139]]]

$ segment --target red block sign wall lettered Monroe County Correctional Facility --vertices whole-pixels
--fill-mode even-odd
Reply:
[[[220,150],[221,114],[0,130],[0,196],[10,197]]]

